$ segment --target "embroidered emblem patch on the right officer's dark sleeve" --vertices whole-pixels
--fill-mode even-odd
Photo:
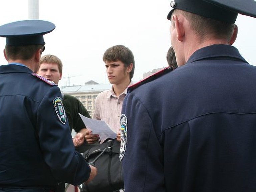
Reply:
[[[122,114],[120,117],[120,124],[121,124],[121,146],[120,146],[120,153],[119,159],[122,161],[125,150],[126,150],[126,143],[127,143],[127,117]]]

